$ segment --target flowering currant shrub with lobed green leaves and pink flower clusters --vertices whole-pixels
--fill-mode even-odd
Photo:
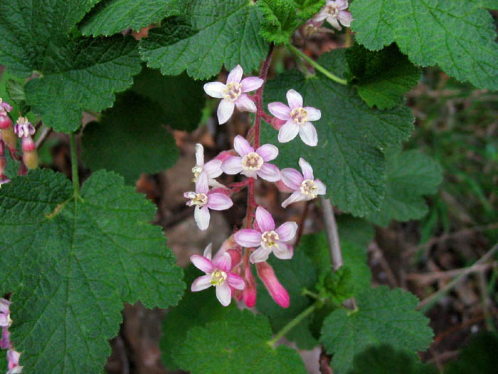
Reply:
[[[0,373],[426,350],[366,249],[443,180],[403,94],[425,66],[498,90],[498,48],[492,1],[406,2],[0,0]],[[167,310],[147,353],[124,303]]]

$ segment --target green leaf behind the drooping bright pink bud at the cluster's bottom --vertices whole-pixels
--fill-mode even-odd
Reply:
[[[275,270],[275,275],[285,287],[290,296],[290,306],[282,308],[271,298],[265,286],[258,278],[258,299],[256,308],[270,318],[273,331],[280,331],[295,316],[312,304],[312,300],[302,295],[303,289],[314,289],[317,283],[317,271],[312,261],[301,250],[296,250],[290,260],[270,258],[269,264]],[[317,346],[317,341],[307,326],[309,318],[304,319],[296,328],[285,335],[289,341],[295,341],[302,349],[312,349]]]

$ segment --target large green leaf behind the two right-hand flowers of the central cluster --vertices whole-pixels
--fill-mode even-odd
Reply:
[[[319,63],[329,68],[343,54],[344,50],[324,53]],[[304,157],[314,168],[314,177],[327,185],[327,196],[339,209],[361,216],[380,208],[386,193],[386,161],[380,149],[400,144],[410,135],[410,110],[403,105],[391,110],[369,108],[353,87],[338,85],[321,74],[304,78],[297,71],[267,82],[266,103],[287,103],[289,88],[301,93],[304,105],[322,110],[322,118],[314,123],[318,145],[309,147],[299,136],[281,144],[277,132],[263,126],[263,143],[272,142],[280,150],[275,164],[297,167],[299,158]]]

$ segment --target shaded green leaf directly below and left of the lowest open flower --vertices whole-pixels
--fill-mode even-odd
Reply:
[[[185,270],[185,283],[190,284],[203,274],[195,266]],[[168,312],[162,324],[161,358],[169,370],[179,370],[174,360],[176,350],[184,346],[187,331],[194,326],[204,327],[211,321],[223,321],[234,304],[222,306],[214,294],[214,289],[201,292],[186,291],[177,306]]]

